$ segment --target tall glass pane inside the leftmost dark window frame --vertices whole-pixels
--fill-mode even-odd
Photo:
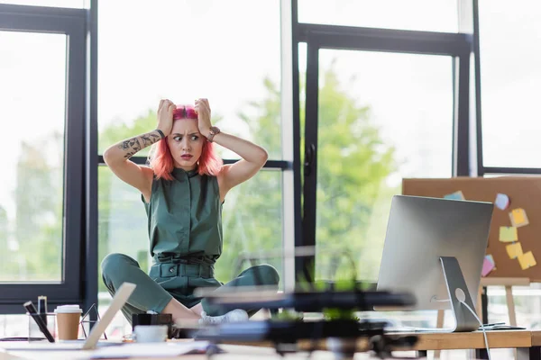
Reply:
[[[60,282],[66,36],[0,31],[0,49],[0,281]]]

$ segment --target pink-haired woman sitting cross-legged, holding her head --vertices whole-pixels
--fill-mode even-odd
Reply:
[[[223,165],[215,154],[215,143],[242,159]],[[149,146],[150,166],[130,160]],[[161,100],[156,130],[105,150],[105,164],[142,193],[148,217],[153,257],[149,274],[124,254],[109,254],[101,264],[111,295],[124,282],[137,285],[122,310],[128,321],[132,322],[133,314],[156,311],[172,314],[176,322],[198,319],[200,323],[220,323],[248,320],[257,311],[221,311],[193,292],[198,287],[222,286],[214,277],[214,265],[223,247],[225,195],[257,174],[267,157],[264,148],[212,126],[206,99],[196,100],[195,106]],[[224,286],[266,285],[278,289],[279,280],[274,267],[260,265],[243,271]]]

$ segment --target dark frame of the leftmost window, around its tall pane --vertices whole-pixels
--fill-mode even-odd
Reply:
[[[47,295],[51,306],[83,305],[84,156],[86,103],[86,9],[0,4],[0,31],[66,35],[62,281],[0,283],[0,312],[23,313],[23,302]],[[38,55],[39,56],[39,55]]]

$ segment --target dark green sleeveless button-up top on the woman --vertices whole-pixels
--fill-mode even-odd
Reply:
[[[148,217],[151,256],[175,253],[205,256],[213,263],[222,254],[222,203],[215,176],[197,168],[175,168],[174,179],[152,180],[151,201],[142,202]]]

